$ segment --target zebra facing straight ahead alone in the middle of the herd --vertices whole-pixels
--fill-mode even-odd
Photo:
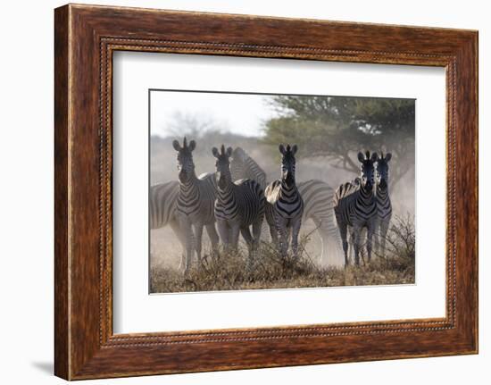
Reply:
[[[297,146],[279,145],[281,158],[281,179],[272,181],[266,196],[266,220],[270,225],[271,239],[279,245],[283,258],[287,256],[289,232],[291,231],[294,259],[298,257],[298,233],[304,214],[304,199],[295,185],[295,154]]]

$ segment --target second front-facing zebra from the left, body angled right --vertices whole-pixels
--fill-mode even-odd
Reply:
[[[255,180],[232,181],[230,156],[232,147],[225,150],[221,145],[212,148],[216,161],[217,196],[214,213],[221,242],[228,249],[237,250],[238,235],[242,234],[249,247],[249,263],[261,239],[261,226],[264,219],[264,192]],[[251,235],[250,227],[253,228]]]

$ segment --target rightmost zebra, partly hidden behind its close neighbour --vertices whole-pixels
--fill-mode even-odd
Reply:
[[[386,237],[388,225],[392,217],[392,205],[388,194],[388,163],[392,154],[380,153],[379,160],[375,166],[376,194],[377,194],[377,214],[378,221],[375,230],[375,245],[381,255],[386,254]]]

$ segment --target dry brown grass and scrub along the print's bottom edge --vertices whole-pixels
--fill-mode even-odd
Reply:
[[[391,285],[414,282],[414,227],[410,217],[395,218],[387,234],[386,255],[375,255],[370,263],[344,267],[321,267],[312,262],[305,248],[310,235],[300,241],[300,255],[282,259],[275,247],[263,242],[248,268],[245,247],[237,253],[204,255],[185,276],[165,264],[154,264],[151,292],[189,292],[237,289],[287,289],[333,286]]]

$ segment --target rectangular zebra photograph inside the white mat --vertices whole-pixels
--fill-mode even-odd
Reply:
[[[149,291],[412,284],[415,100],[149,90]]]

